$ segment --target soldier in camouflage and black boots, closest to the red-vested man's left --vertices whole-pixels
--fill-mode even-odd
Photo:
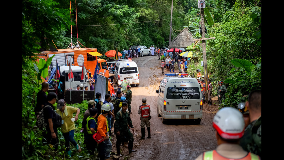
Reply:
[[[123,138],[126,138],[129,141],[128,145],[128,152],[136,152],[136,150],[132,150],[133,148],[133,134],[130,132],[130,128],[132,132],[134,132],[134,127],[132,125],[131,118],[126,111],[127,109],[127,100],[123,101],[122,110],[117,112],[116,117],[115,117],[115,132],[116,132],[116,150],[117,150],[117,155],[121,157],[120,154],[120,144],[123,141]]]

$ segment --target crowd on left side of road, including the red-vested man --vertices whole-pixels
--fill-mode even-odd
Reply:
[[[88,102],[88,109],[84,113],[82,121],[82,130],[84,134],[85,149],[94,155],[97,148],[99,159],[109,159],[112,143],[110,136],[112,131],[116,134],[116,149],[117,155],[121,155],[120,145],[128,147],[128,153],[135,152],[133,150],[133,133],[134,127],[130,118],[132,114],[131,100],[132,91],[129,82],[124,78],[124,81],[118,87],[113,88],[111,78],[108,79],[109,91],[104,95],[105,101],[101,102],[101,93],[96,93],[96,99]],[[82,86],[83,87],[83,86]],[[81,90],[77,86],[78,90]],[[65,148],[68,156],[71,157],[70,142],[81,152],[81,146],[74,139],[75,124],[78,120],[80,109],[76,107],[66,106],[64,96],[58,99],[59,96],[55,92],[50,92],[48,95],[45,92],[49,85],[43,82],[41,91],[37,94],[37,106],[35,113],[44,119],[46,132],[43,131],[44,143],[49,144],[57,150],[59,145],[58,128],[61,127],[61,132],[65,139]],[[146,98],[142,99],[142,105],[139,107],[138,114],[141,114],[141,139],[145,139],[145,126],[150,133],[150,106],[146,104]],[[57,108],[53,105],[57,102]],[[76,115],[73,117],[73,113]],[[57,123],[61,117],[60,124]],[[57,119],[57,120],[56,120]],[[115,120],[115,123],[114,123]],[[132,131],[132,132],[131,132]],[[101,138],[102,141],[99,141]]]

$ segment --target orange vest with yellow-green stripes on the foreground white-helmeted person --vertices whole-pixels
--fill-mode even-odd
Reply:
[[[214,160],[214,159],[217,159],[217,160],[233,160],[232,158],[222,157],[220,154],[218,154],[216,152],[216,150],[204,152],[203,153],[203,160],[205,160],[205,159],[206,160]],[[238,159],[238,160],[258,160],[258,159],[260,159],[258,155],[249,152],[247,154],[247,156],[245,156],[241,159]]]

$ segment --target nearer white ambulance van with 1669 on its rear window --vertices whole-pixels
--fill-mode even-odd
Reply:
[[[162,123],[169,119],[195,119],[200,124],[202,118],[202,95],[195,78],[187,74],[165,74],[160,83],[158,95],[158,116]]]

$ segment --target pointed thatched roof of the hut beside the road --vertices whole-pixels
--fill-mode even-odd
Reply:
[[[168,48],[187,48],[194,43],[192,34],[188,32],[187,28],[184,28],[179,35],[169,44]]]

